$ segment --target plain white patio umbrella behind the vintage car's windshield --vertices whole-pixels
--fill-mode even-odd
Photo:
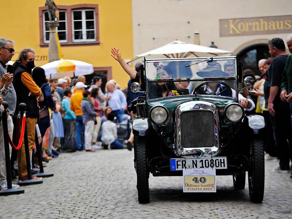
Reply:
[[[191,44],[182,42],[180,40],[175,40],[171,43],[168,43],[164,46],[161,46],[157,49],[150,50],[148,52],[142,53],[136,56],[135,59],[131,61],[135,61],[136,59],[144,56],[149,55],[164,55],[167,58],[186,58],[190,55],[194,55],[196,57],[204,57],[204,54],[211,54],[213,56],[218,56],[218,54],[226,54],[232,53],[230,51],[222,50],[222,49],[215,49],[208,46],[201,46],[197,44]],[[129,61],[129,62],[131,62]]]

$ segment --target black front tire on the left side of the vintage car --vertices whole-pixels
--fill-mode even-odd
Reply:
[[[146,138],[135,136],[134,149],[137,173],[138,201],[140,204],[145,204],[150,201]]]

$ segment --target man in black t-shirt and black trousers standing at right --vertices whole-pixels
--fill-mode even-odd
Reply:
[[[285,44],[281,38],[273,38],[268,44],[269,53],[274,59],[266,73],[264,84],[265,104],[270,113],[280,160],[279,167],[274,171],[287,172],[290,169],[289,161],[292,158],[291,149],[287,142],[291,135],[291,115],[289,104],[280,99],[280,87],[288,54],[286,54]]]

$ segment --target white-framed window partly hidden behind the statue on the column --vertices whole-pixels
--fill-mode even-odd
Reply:
[[[67,42],[67,13],[66,11],[60,11],[60,21],[59,21],[59,27],[56,28],[56,31],[58,32],[59,36],[59,42],[60,43],[66,43]],[[49,16],[48,12],[43,12],[43,30],[44,30],[44,43],[49,43],[50,40],[50,30],[46,26],[46,24],[49,22]]]

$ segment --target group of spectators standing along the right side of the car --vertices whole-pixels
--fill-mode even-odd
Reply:
[[[244,96],[251,96],[256,103],[251,113],[263,115],[265,119],[265,160],[279,161],[279,167],[273,171],[289,172],[292,169],[292,61],[283,39],[273,38],[268,46],[271,57],[258,62],[261,75]],[[292,53],[292,34],[288,35],[287,46]],[[251,70],[245,70],[244,76],[256,80]]]

